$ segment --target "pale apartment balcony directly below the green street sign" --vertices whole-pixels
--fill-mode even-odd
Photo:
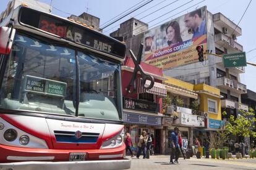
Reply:
[[[217,78],[217,86],[239,94],[247,93],[246,85],[226,77]]]

